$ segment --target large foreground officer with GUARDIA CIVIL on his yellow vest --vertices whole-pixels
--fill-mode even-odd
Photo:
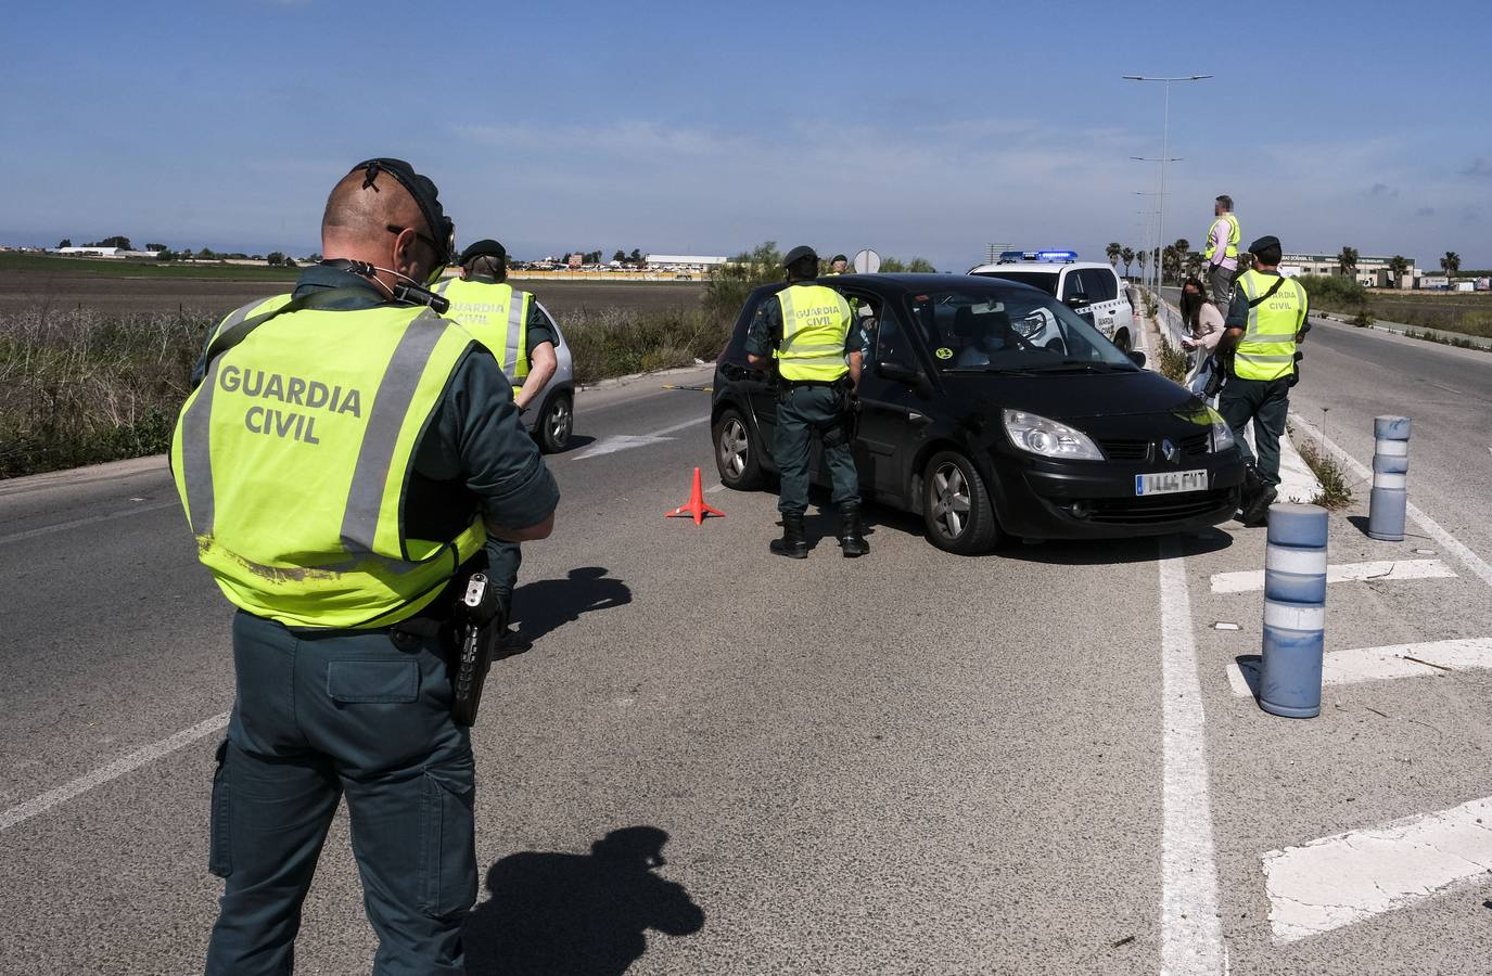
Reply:
[[[219,325],[172,440],[198,556],[239,608],[206,969],[291,972],[346,796],[373,972],[463,973],[473,757],[434,632],[458,566],[488,535],[549,535],[560,495],[497,362],[427,307],[452,249],[434,183],[361,162],[321,232],[328,259],[291,295]]]

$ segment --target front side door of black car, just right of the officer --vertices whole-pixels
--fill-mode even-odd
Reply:
[[[907,465],[928,423],[924,402],[910,375],[925,377],[915,337],[903,323],[904,313],[879,298],[864,297],[874,313],[870,323],[871,350],[859,380],[859,422],[855,463],[859,483],[885,501],[907,504]],[[897,378],[888,374],[897,374]]]

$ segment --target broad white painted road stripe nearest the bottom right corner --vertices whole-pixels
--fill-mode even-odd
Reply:
[[[1492,870],[1492,797],[1264,855],[1276,943],[1361,922]]]

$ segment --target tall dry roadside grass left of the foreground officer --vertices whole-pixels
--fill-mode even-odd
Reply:
[[[0,316],[0,478],[164,451],[213,319]]]

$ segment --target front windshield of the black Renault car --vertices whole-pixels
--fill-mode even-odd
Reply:
[[[1113,373],[1138,367],[1094,326],[1043,294],[959,288],[912,297],[943,373]]]

